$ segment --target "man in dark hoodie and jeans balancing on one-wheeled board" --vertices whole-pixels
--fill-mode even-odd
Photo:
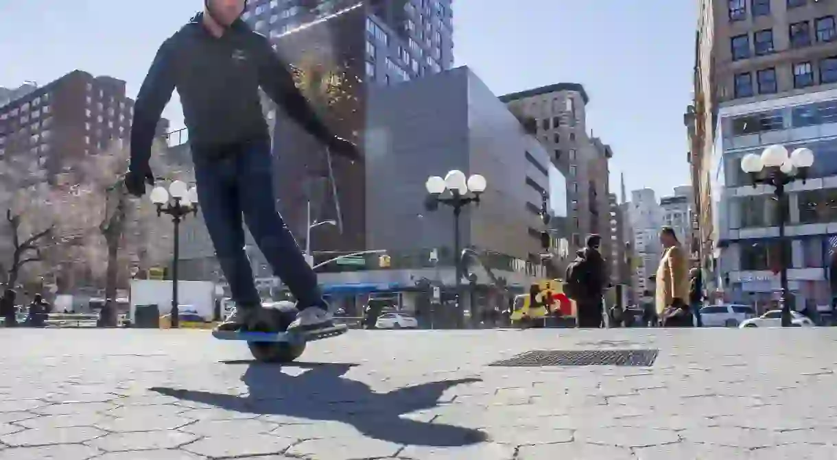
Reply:
[[[332,153],[352,160],[359,154],[317,117],[270,41],[241,20],[244,6],[245,0],[205,0],[203,13],[162,43],[134,104],[126,188],[140,197],[146,183],[153,183],[151,143],[177,89],[203,220],[236,302],[220,329],[240,329],[261,306],[244,253],[243,215],[259,249],[297,299],[300,314],[289,329],[318,330],[331,326],[331,314],[314,271],[275,208],[259,88]]]

